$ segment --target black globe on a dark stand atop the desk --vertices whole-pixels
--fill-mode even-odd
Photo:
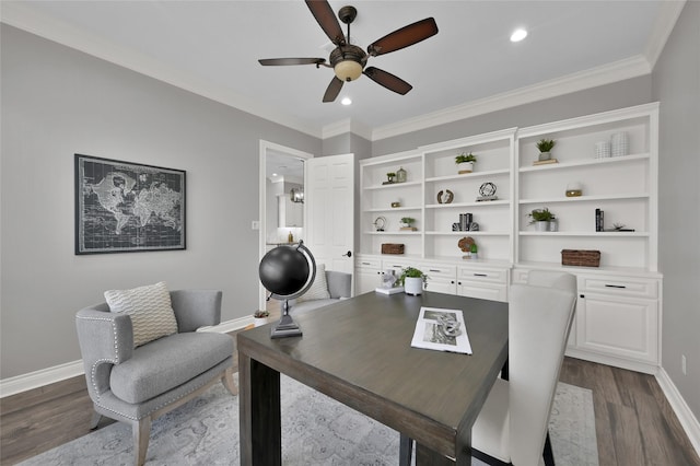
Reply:
[[[272,326],[271,337],[298,337],[299,325],[289,314],[289,300],[304,294],[316,278],[316,261],[311,251],[300,241],[299,245],[283,245],[269,251],[258,267],[260,282],[273,298],[282,301],[282,317]]]

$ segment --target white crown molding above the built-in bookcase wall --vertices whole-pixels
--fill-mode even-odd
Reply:
[[[568,74],[549,81],[516,89],[493,95],[491,97],[468,102],[454,107],[421,115],[376,128],[372,132],[372,141],[377,141],[407,132],[419,131],[425,128],[445,125],[460,119],[471,118],[491,112],[512,108],[518,105],[530,104],[572,92],[584,91],[591,88],[637,78],[651,73],[651,67],[646,58],[638,55],[625,60],[592,68],[578,73]]]

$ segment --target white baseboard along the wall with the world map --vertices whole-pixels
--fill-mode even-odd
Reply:
[[[203,327],[201,331],[214,331],[218,334],[228,334],[229,331],[240,330],[253,324],[253,317],[234,318],[233,321],[222,322],[213,327]],[[16,395],[34,388],[39,388],[56,382],[65,381],[77,375],[83,375],[83,361],[72,361],[65,364],[55,365],[52,368],[42,369],[39,371],[30,372],[27,374],[16,375],[10,378],[0,380],[0,398]]]

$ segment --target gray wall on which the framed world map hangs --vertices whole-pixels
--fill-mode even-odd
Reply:
[[[80,359],[75,311],[165,280],[258,305],[259,139],[319,139],[14,27],[1,27],[1,378]],[[187,171],[187,249],[75,256],[73,154]]]

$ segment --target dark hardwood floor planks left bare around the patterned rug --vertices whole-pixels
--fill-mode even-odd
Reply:
[[[593,391],[600,466],[700,466],[653,376],[567,358],[560,380]],[[88,434],[91,416],[83,376],[2,398],[0,464]]]

